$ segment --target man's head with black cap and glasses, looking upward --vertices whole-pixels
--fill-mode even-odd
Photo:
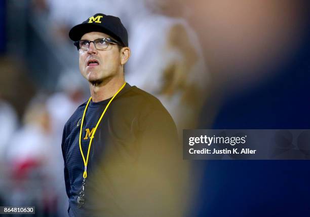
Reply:
[[[74,26],[69,37],[80,51],[81,74],[92,84],[124,78],[130,57],[127,30],[120,18],[95,14]]]

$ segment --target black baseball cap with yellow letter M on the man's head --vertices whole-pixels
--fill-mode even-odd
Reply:
[[[79,41],[88,32],[99,31],[106,33],[128,47],[128,33],[119,17],[105,14],[95,14],[87,18],[83,23],[73,26],[69,31],[72,41]]]

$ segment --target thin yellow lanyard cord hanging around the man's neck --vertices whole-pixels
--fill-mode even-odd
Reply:
[[[85,114],[86,114],[86,111],[87,111],[88,104],[89,104],[90,100],[92,99],[92,97],[89,98],[89,100],[88,100],[88,102],[87,102],[87,104],[86,104],[86,106],[85,106],[85,110],[84,110],[83,118],[82,118],[82,123],[81,123],[81,129],[80,129],[80,139],[79,139],[80,151],[81,151],[81,155],[82,155],[83,161],[84,161],[84,173],[83,173],[83,177],[84,177],[84,178],[87,177],[88,157],[89,157],[89,152],[90,152],[90,148],[91,148],[91,145],[92,145],[92,140],[93,140],[93,138],[94,138],[94,135],[95,135],[95,132],[96,132],[96,130],[97,130],[97,127],[98,127],[98,125],[99,125],[101,119],[103,118],[104,113],[106,112],[106,110],[107,110],[108,106],[110,105],[111,101],[114,99],[114,97],[115,97],[116,95],[118,95],[118,93],[125,87],[125,85],[126,85],[126,82],[125,82],[125,83],[123,84],[123,86],[118,90],[118,92],[116,92],[116,93],[114,94],[114,96],[110,99],[109,103],[105,106],[104,111],[102,112],[101,117],[99,118],[99,120],[98,120],[98,122],[97,122],[97,124],[96,124],[96,126],[95,126],[95,129],[94,129],[94,131],[93,131],[93,133],[92,133],[92,135],[91,135],[91,137],[90,137],[86,161],[85,161],[85,157],[84,157],[84,154],[83,154],[83,151],[82,151],[81,137],[82,137],[82,128],[83,128],[83,122],[84,122]]]

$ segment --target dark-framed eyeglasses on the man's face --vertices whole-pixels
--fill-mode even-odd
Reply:
[[[89,48],[90,43],[94,43],[95,48],[99,51],[107,49],[109,44],[115,44],[115,45],[120,45],[123,47],[123,45],[117,41],[114,41],[112,39],[96,39],[94,41],[88,41],[88,40],[80,40],[74,42],[74,46],[78,49],[78,51],[87,51]]]

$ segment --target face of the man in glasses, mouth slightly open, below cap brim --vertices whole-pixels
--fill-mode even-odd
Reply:
[[[102,32],[88,32],[82,36],[81,40],[94,41],[102,38],[111,39],[108,34]],[[121,53],[118,46],[114,44],[108,44],[105,50],[99,51],[94,43],[90,43],[87,51],[80,51],[79,62],[81,74],[90,83],[101,83],[105,79],[123,74]]]

